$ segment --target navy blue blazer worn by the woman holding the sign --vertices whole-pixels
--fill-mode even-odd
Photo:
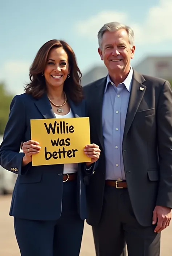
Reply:
[[[86,102],[69,100],[74,117],[86,117]],[[46,94],[35,99],[28,94],[17,95],[10,106],[4,139],[0,146],[0,165],[18,174],[9,215],[32,220],[57,220],[62,210],[62,174],[64,164],[22,166],[24,153],[21,142],[29,141],[30,119],[56,118]],[[84,177],[92,175],[96,164],[86,171],[85,163],[78,164],[77,205],[81,219],[87,218]]]

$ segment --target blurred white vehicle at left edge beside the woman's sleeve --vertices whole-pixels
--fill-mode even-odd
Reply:
[[[0,136],[0,144],[3,140],[3,137]],[[15,186],[17,179],[17,174],[5,170],[0,166],[0,195],[11,194]]]

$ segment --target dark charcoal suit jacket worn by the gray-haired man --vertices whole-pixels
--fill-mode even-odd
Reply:
[[[91,225],[101,218],[105,188],[102,103],[106,81],[107,77],[84,86],[91,141],[101,149],[87,187]],[[134,70],[122,150],[134,214],[141,225],[151,225],[156,205],[172,208],[172,89],[168,81]]]

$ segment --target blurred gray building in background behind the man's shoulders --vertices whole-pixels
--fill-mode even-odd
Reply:
[[[133,68],[144,75],[164,78],[172,81],[172,56],[170,57],[147,57]],[[105,66],[96,66],[89,70],[81,78],[82,86],[94,82],[107,75],[107,68]]]

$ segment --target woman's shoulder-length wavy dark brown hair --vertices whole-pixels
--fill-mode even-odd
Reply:
[[[45,70],[50,50],[59,47],[62,47],[67,53],[70,68],[70,77],[67,77],[64,82],[64,92],[72,101],[79,102],[83,99],[81,86],[82,74],[78,68],[72,48],[62,40],[50,40],[38,50],[30,66],[29,78],[31,82],[25,86],[25,92],[31,94],[34,98],[40,98],[46,93],[45,77],[42,76],[42,72]]]

